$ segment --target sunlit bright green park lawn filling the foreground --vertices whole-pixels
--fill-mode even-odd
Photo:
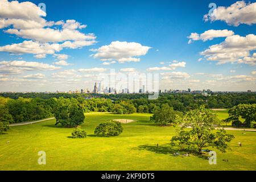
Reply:
[[[0,170],[255,170],[256,132],[234,134],[232,150],[217,151],[217,165],[192,155],[174,156],[170,145],[175,127],[150,122],[150,114],[86,114],[82,129],[88,137],[73,139],[71,131],[55,126],[55,119],[33,125],[15,126],[0,135]],[[95,137],[95,127],[110,119],[134,119],[122,124],[117,137]],[[10,141],[9,144],[6,142]],[[238,147],[242,142],[242,147]],[[159,144],[159,148],[156,144]],[[209,148],[211,149],[211,148]],[[38,164],[38,152],[46,152],[46,165]],[[205,155],[207,156],[207,155]],[[228,159],[224,162],[223,159]]]

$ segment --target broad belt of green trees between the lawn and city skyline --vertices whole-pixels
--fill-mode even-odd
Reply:
[[[5,96],[10,96],[0,97],[0,122],[2,122],[0,125],[2,128],[5,128],[5,130],[8,128],[6,123],[27,122],[49,118],[56,116],[57,111],[59,111],[60,114],[64,114],[65,112],[62,110],[67,111],[67,107],[63,106],[60,108],[60,105],[73,105],[73,110],[76,110],[75,107],[79,107],[84,113],[90,111],[112,112],[115,114],[158,112],[163,115],[165,112],[169,114],[170,117],[174,116],[176,113],[180,115],[182,113],[187,113],[190,110],[198,109],[201,105],[205,106],[205,108],[234,107],[235,109],[230,110],[230,117],[226,122],[232,121],[234,126],[241,126],[241,122],[237,118],[241,115],[245,115],[245,110],[251,111],[252,109],[251,106],[239,107],[239,109],[236,108],[238,108],[238,105],[240,104],[254,106],[253,104],[256,102],[254,93],[227,93],[209,97],[200,94],[162,94],[157,100],[148,100],[147,98],[144,98],[147,94],[116,94],[113,96],[111,94],[102,96],[101,94],[95,94],[98,98],[90,98],[88,94],[67,94],[65,95],[67,97],[52,97],[56,96],[56,94],[48,95],[40,93],[39,95],[36,93],[31,93],[32,95],[24,95],[26,97],[50,96],[51,98],[16,98],[17,94],[19,96],[20,93],[5,94]],[[60,96],[62,96],[62,94],[60,94]],[[142,98],[140,98],[141,96]],[[115,99],[112,97],[115,97]],[[135,98],[130,99],[130,97]],[[243,109],[243,111],[238,113],[241,109]],[[245,118],[246,116],[242,117]],[[246,118],[246,126],[253,127],[252,121],[254,120],[255,115],[249,119],[248,117]],[[166,121],[161,118],[152,118],[152,120],[159,120],[166,123]]]

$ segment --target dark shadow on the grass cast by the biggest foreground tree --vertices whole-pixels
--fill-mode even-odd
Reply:
[[[193,155],[193,156],[197,156],[198,158],[208,160],[208,156],[205,154],[198,154],[196,152],[187,151],[187,150],[178,150],[171,144],[163,144],[161,146],[160,145],[157,146],[154,144],[143,144],[141,146],[134,147],[133,149],[134,150],[147,150],[147,151],[155,152],[156,154],[166,154],[166,155],[171,155],[174,157],[182,157],[182,158],[187,158],[187,157]],[[179,155],[175,155],[175,153],[179,153]],[[183,154],[187,154],[187,153],[189,156],[183,156]]]

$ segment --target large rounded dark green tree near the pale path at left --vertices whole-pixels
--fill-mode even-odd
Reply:
[[[77,127],[84,122],[84,111],[77,104],[60,105],[55,111],[56,125]]]

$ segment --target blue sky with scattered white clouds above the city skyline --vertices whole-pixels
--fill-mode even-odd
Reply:
[[[214,2],[0,0],[0,91],[92,89],[119,73],[256,90],[256,2]]]

